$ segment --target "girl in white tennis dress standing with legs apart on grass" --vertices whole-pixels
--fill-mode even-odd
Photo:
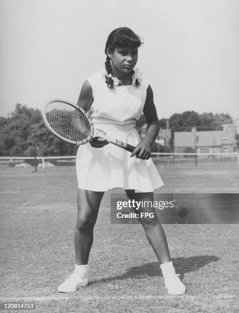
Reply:
[[[93,243],[93,229],[104,191],[120,187],[129,199],[154,201],[153,191],[163,185],[150,159],[150,147],[159,132],[153,91],[134,70],[138,59],[139,37],[129,28],[115,29],[106,42],[105,69],[84,82],[78,106],[89,111],[96,128],[108,136],[136,146],[129,153],[107,140],[94,138],[80,146],[76,157],[78,179],[78,215],[75,228],[76,263],[73,274],[58,287],[58,292],[74,292],[88,284],[88,260]],[[140,140],[135,128],[142,112],[147,131]],[[154,208],[140,208],[137,213],[154,213],[154,218],[139,218],[146,237],[160,261],[169,294],[182,295],[185,286],[170,260],[165,233]]]

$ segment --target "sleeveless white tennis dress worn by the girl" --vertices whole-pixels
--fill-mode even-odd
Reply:
[[[92,122],[108,136],[136,146],[141,139],[135,125],[143,111],[148,84],[142,81],[139,87],[132,84],[111,90],[105,83],[105,73],[100,70],[86,79],[94,98],[89,111]],[[164,185],[151,158],[140,160],[130,156],[130,152],[112,144],[103,148],[93,148],[89,143],[79,146],[78,188],[106,191],[118,187],[151,192]]]

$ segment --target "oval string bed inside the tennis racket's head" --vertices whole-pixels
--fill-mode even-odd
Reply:
[[[46,118],[51,128],[65,139],[82,141],[91,134],[91,124],[83,112],[67,103],[49,103]]]

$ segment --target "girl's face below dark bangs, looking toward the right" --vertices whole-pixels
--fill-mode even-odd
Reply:
[[[106,52],[112,60],[112,68],[115,67],[124,73],[130,73],[138,60],[138,48],[116,47],[113,52],[108,49]]]

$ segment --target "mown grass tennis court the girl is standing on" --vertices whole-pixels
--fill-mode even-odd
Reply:
[[[164,225],[187,287],[184,296],[170,296],[142,226],[111,225],[110,192],[95,226],[89,286],[57,293],[74,267],[75,168],[33,169],[0,168],[0,301],[34,301],[35,312],[48,313],[238,312],[238,225]],[[236,193],[238,169],[159,166],[165,186],[157,192]]]

